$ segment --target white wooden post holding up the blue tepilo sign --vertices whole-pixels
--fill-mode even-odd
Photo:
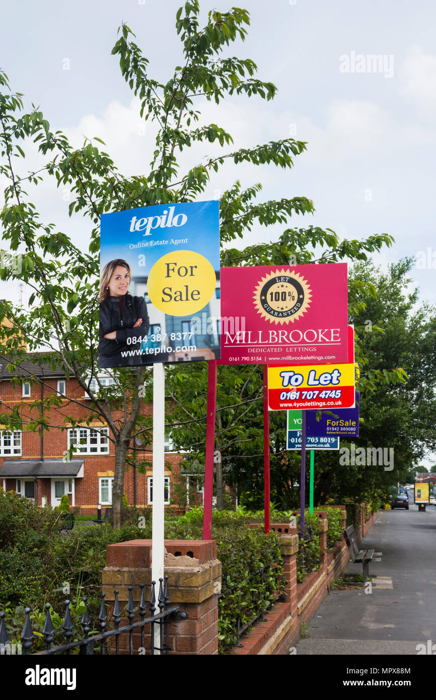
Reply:
[[[164,487],[165,487],[165,367],[153,364],[153,545],[151,551],[151,580],[156,582],[156,608],[159,579],[164,577]],[[155,624],[155,654],[160,654],[160,624]]]

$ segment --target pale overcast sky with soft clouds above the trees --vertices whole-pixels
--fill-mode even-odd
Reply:
[[[386,266],[404,255],[429,253],[415,267],[421,299],[436,303],[435,3],[431,0],[246,0],[251,13],[244,43],[230,55],[250,57],[258,77],[279,90],[273,102],[232,97],[219,108],[199,98],[203,120],[216,122],[237,148],[288,136],[307,141],[292,171],[227,163],[202,199],[239,178],[261,182],[261,200],[304,195],[315,216],[292,225],[332,228],[363,239],[386,232],[395,244],[376,260]],[[175,29],[180,0],[20,0],[3,3],[0,66],[13,90],[38,105],[52,129],[80,146],[100,137],[125,174],[148,172],[153,127],[141,130],[138,103],[111,56],[122,21],[150,60],[150,75],[169,78],[181,62]],[[203,17],[213,7],[201,1]],[[227,10],[226,3],[216,3]],[[370,59],[381,55],[377,71]],[[148,123],[147,123],[148,124]],[[195,147],[183,165],[215,153]],[[36,155],[34,162],[37,162]],[[23,173],[25,174],[25,172]],[[86,245],[88,223],[68,220],[68,197],[43,186],[35,195],[45,220]],[[244,244],[274,239],[278,230],[257,227]],[[428,251],[430,248],[430,251]],[[435,269],[431,265],[434,254]],[[20,290],[0,285],[17,301]]]

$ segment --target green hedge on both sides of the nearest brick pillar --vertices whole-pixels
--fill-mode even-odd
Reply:
[[[165,537],[201,539],[202,509],[192,509],[187,516],[169,515]],[[103,524],[79,528],[64,537],[59,535],[59,517],[50,507],[40,508],[12,491],[0,496],[0,604],[7,612],[10,631],[22,629],[24,606],[31,608],[34,629],[42,629],[44,605],[50,602],[60,634],[57,622],[63,617],[66,596],[62,587],[66,583],[72,608],[80,610],[80,597],[85,595],[91,617],[98,615],[107,545],[152,535],[150,510],[133,506],[124,507],[120,530]],[[212,538],[224,573],[218,611],[222,653],[237,640],[238,616],[240,626],[251,622],[276,600],[285,583],[278,536],[265,535],[262,528],[248,528],[245,519],[241,513],[213,511]],[[272,568],[262,577],[260,568],[270,564]]]

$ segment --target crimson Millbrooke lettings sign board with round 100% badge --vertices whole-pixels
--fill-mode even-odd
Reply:
[[[218,364],[348,360],[346,262],[221,267]]]

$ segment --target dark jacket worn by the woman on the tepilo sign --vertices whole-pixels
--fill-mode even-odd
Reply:
[[[142,324],[133,328],[134,323],[142,318]],[[99,332],[99,367],[120,367],[125,365],[140,365],[141,357],[132,353],[122,357],[121,351],[137,350],[141,343],[130,343],[127,338],[136,336],[146,339],[150,328],[147,304],[143,297],[132,297],[127,293],[122,300],[122,310],[118,305],[117,297],[108,297],[100,304],[100,332]],[[116,330],[116,340],[109,340],[104,336]]]

